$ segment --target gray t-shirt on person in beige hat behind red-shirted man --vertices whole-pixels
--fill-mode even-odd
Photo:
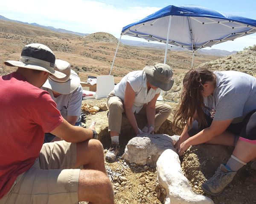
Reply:
[[[81,85],[71,94],[61,94],[54,97],[52,90],[49,88],[41,87],[41,89],[48,91],[52,100],[57,104],[57,109],[61,112],[61,116],[67,119],[67,116],[77,116],[77,121],[81,121],[81,105],[83,99],[83,88]]]

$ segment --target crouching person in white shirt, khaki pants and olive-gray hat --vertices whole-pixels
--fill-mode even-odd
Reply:
[[[156,132],[170,115],[172,108],[157,102],[161,90],[172,88],[172,68],[166,64],[145,66],[143,70],[128,73],[108,95],[107,104],[108,131],[111,147],[105,155],[107,161],[114,161],[119,153],[119,134],[121,132],[122,113],[125,112],[136,135]],[[134,114],[145,115],[147,125],[142,130],[137,125]]]

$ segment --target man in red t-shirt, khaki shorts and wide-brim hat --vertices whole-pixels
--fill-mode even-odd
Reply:
[[[17,71],[0,77],[0,204],[113,204],[113,188],[96,132],[70,125],[40,87],[54,70],[45,45],[26,45]],[[46,143],[44,133],[61,141]],[[76,167],[82,166],[85,170]]]

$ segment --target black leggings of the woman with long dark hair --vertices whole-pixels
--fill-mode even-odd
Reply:
[[[213,119],[211,119],[207,114],[204,114],[204,116],[207,121],[207,125],[198,127],[198,122],[196,120],[192,122],[192,127],[188,131],[190,137],[199,133],[201,130],[210,127]],[[227,130],[245,139],[256,140],[256,110],[248,113],[242,122],[230,124],[230,126],[227,127]]]

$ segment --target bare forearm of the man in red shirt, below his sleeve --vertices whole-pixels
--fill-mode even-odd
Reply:
[[[65,119],[51,133],[64,139],[66,142],[83,142],[93,138],[93,131],[84,127],[73,126]]]

